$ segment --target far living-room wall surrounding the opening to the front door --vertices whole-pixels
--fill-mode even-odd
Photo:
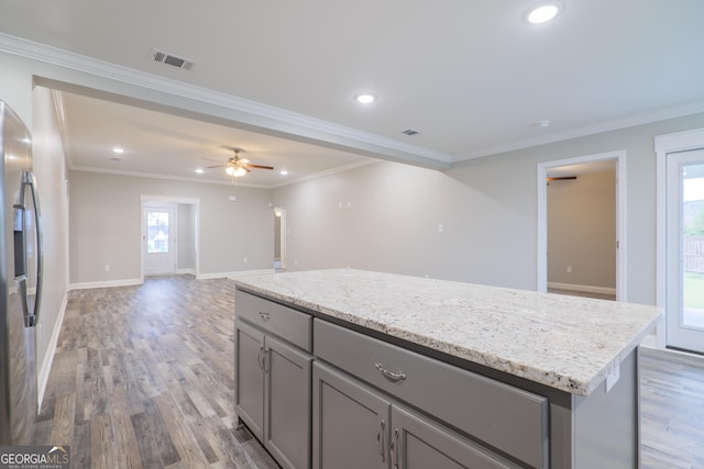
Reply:
[[[198,200],[200,276],[272,268],[268,190],[86,171],[69,180],[72,284],[139,281],[143,194]]]

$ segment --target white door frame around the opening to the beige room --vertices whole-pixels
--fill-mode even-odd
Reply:
[[[613,159],[616,161],[616,300],[627,301],[626,282],[626,150],[584,155],[575,158],[556,159],[538,164],[538,277],[536,290],[548,291],[548,190],[546,178],[550,168],[581,165]]]

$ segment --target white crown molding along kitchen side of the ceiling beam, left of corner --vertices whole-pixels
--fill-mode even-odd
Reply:
[[[0,51],[151,91],[223,108],[234,111],[243,124],[253,125],[263,131],[283,132],[293,137],[317,141],[320,145],[334,145],[382,159],[400,160],[436,169],[449,168],[453,159],[451,155],[441,152],[409,145],[393,138],[3,33],[0,33]]]

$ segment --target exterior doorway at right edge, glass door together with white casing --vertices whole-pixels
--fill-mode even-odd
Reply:
[[[704,354],[704,131],[656,138],[658,305],[667,347]],[[664,223],[662,223],[664,222]],[[662,337],[664,336],[664,337]]]

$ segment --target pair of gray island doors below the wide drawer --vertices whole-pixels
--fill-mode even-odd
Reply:
[[[314,469],[518,467],[320,361],[312,412]]]

